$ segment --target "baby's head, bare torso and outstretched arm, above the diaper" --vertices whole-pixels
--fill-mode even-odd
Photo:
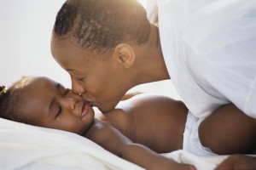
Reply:
[[[156,98],[166,103],[178,103],[162,97]],[[90,103],[60,83],[47,77],[24,77],[6,92],[0,93],[0,116],[15,122],[78,133],[145,169],[195,169],[193,166],[178,164],[153,151],[169,152],[182,148],[186,118],[186,114],[181,113],[183,109],[183,112],[186,112],[183,104],[162,109],[161,105],[154,104],[155,100],[151,101],[146,96],[142,96],[140,102],[139,100],[127,100],[106,115],[95,114]],[[172,107],[182,108],[181,111],[173,112],[179,118],[176,118],[175,123],[160,123],[160,116],[167,115],[166,111]],[[154,116],[153,111],[150,111],[156,109],[162,112],[159,116]],[[169,117],[172,120],[172,114]],[[169,127],[163,128],[166,126]],[[161,129],[165,131],[159,133]],[[177,133],[173,133],[174,131]],[[170,134],[167,136],[166,133]]]

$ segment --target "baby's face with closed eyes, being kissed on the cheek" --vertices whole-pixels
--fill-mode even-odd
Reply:
[[[32,124],[83,134],[95,113],[86,100],[47,77],[35,77],[21,94],[21,116]]]

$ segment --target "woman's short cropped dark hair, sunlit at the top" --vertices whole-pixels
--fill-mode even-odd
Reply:
[[[54,33],[69,35],[81,48],[103,52],[123,41],[148,41],[150,24],[137,0],[67,0],[58,12]]]

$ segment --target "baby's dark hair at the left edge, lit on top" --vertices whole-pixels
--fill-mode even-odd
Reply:
[[[9,87],[6,93],[0,94],[0,117],[10,121],[31,124],[28,118],[19,114],[21,92],[28,80],[28,77],[22,77],[20,81]]]

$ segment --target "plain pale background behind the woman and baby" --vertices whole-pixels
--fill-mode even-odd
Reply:
[[[0,0],[0,85],[22,76],[44,75],[70,88],[70,78],[51,57],[49,43],[55,15],[65,0]],[[147,0],[142,0],[145,6]],[[131,91],[179,99],[172,82],[137,86]]]

